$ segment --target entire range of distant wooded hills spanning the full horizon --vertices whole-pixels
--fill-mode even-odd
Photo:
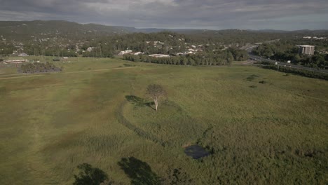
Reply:
[[[157,29],[135,27],[118,27],[97,24],[78,24],[63,20],[34,20],[34,21],[0,21],[0,36],[8,41],[29,41],[31,39],[63,38],[73,41],[91,40],[101,36],[123,35],[131,33],[158,33],[177,32],[179,34],[197,35],[200,37],[217,37],[229,39],[231,37],[240,41],[278,39],[304,34],[322,36],[328,35],[328,30],[299,30],[282,31],[273,29],[242,30],[242,29]],[[241,36],[242,35],[242,36]],[[254,39],[247,39],[252,37]],[[2,39],[2,38],[0,38]]]

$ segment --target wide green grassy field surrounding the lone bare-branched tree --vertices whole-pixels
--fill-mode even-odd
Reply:
[[[118,162],[132,156],[163,184],[328,183],[328,81],[241,65],[57,65],[0,68],[0,184],[71,184],[81,163],[130,184]],[[143,103],[152,83],[168,91],[158,112]],[[193,160],[190,144],[212,154]]]

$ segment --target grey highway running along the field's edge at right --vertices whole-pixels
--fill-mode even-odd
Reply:
[[[259,57],[257,55],[252,55],[251,54],[252,49],[256,48],[256,47],[257,46],[251,46],[251,47],[245,49],[245,50],[248,51],[248,55],[250,55],[250,59],[252,59],[252,60],[256,60],[256,61],[259,61],[259,62],[268,62],[268,63],[271,63],[271,64],[276,64],[277,63],[277,65],[279,67],[290,67],[290,68],[294,68],[294,69],[303,69],[303,70],[307,70],[307,71],[314,71],[314,72],[317,72],[317,73],[328,74],[328,70],[315,69],[315,68],[311,68],[311,67],[303,67],[303,66],[299,66],[299,65],[295,65],[295,64],[290,64],[290,63],[287,63],[287,62],[279,62],[279,61],[276,61],[276,60],[271,60],[271,59],[266,59],[264,57]]]

